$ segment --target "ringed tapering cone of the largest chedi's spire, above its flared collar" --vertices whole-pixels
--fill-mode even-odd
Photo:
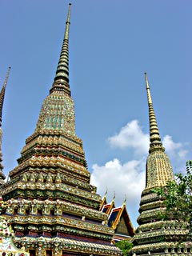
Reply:
[[[58,61],[58,68],[56,71],[56,75],[54,78],[54,82],[57,82],[58,80],[65,81],[67,85],[69,86],[69,35],[70,35],[70,6],[69,4],[69,10],[66,18],[66,30],[64,34],[64,40],[62,43],[62,51],[60,54],[60,58]]]

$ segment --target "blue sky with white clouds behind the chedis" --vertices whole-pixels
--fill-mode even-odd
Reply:
[[[145,186],[148,108],[144,72],[174,172],[191,158],[192,2],[73,0],[70,88],[76,132],[91,182],[116,206],[125,194],[136,226]],[[6,174],[17,166],[49,94],[62,46],[68,2],[0,2],[0,82],[10,78],[2,117]]]

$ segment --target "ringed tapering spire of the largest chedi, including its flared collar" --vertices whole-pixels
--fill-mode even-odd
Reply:
[[[50,90],[65,90],[66,93],[70,94],[69,85],[69,34],[70,34],[70,6],[66,18],[66,30],[62,43],[62,51],[58,61],[58,67],[54,78],[54,84]]]

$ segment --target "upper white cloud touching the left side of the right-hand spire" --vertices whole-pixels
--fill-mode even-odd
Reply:
[[[118,134],[108,138],[110,146],[125,149],[133,148],[135,154],[146,154],[149,149],[149,134],[144,134],[138,120],[128,122]]]

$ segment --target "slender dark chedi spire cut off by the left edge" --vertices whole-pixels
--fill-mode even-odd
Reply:
[[[4,179],[6,178],[6,176],[2,173],[2,106],[3,106],[3,102],[4,102],[4,96],[5,96],[5,92],[6,92],[6,84],[9,78],[9,74],[10,74],[10,67],[7,71],[6,74],[6,79],[5,82],[2,86],[2,90],[0,93],[0,184],[4,183]]]

